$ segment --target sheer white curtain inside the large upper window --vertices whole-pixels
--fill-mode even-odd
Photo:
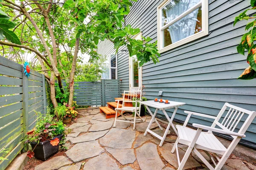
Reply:
[[[183,12],[192,6],[195,6],[200,0],[172,0],[163,10],[166,11],[166,22],[174,20]],[[198,10],[196,9],[169,26],[172,43],[182,40],[190,35],[195,34],[195,26],[197,22]]]

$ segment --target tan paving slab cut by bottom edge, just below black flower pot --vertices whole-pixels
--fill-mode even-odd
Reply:
[[[57,170],[67,164],[72,164],[65,156],[55,156],[43,163],[37,165],[35,170]]]

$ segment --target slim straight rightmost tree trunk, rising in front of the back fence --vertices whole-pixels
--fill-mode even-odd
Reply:
[[[72,106],[72,104],[73,104],[73,97],[74,97],[74,76],[75,76],[76,62],[77,62],[77,57],[78,57],[77,54],[79,51],[79,41],[80,41],[80,38],[77,38],[73,62],[72,62],[72,68],[70,71],[70,82],[69,82],[70,96],[68,99],[68,105],[70,105],[70,106]]]

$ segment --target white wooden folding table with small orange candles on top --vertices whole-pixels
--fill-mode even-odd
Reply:
[[[163,100],[163,102],[165,102],[165,100]],[[151,121],[149,122],[149,125],[144,133],[144,136],[146,136],[147,132],[151,133],[152,135],[156,136],[158,139],[161,140],[159,146],[161,147],[163,145],[163,141],[166,138],[166,135],[168,133],[168,130],[170,128],[170,126],[172,126],[173,130],[175,131],[175,133],[178,135],[178,132],[175,128],[175,126],[172,124],[172,121],[174,119],[174,116],[177,112],[177,109],[179,106],[185,105],[186,103],[183,102],[173,102],[173,101],[169,101],[169,104],[165,104],[165,103],[160,103],[160,102],[155,102],[154,100],[149,100],[149,101],[144,101],[144,102],[140,102],[142,105],[145,105],[145,107],[147,108],[148,112],[150,113],[150,115],[152,116]],[[148,107],[152,107],[152,108],[156,108],[154,114],[151,112],[151,110]],[[166,109],[170,109],[170,108],[175,108],[174,112],[172,113],[172,117],[171,119],[169,118],[168,114],[166,113]],[[166,128],[166,131],[163,134],[163,137],[160,135],[157,135],[157,133],[154,133],[152,130],[149,130],[149,127],[151,126],[151,124],[155,121],[157,123],[157,125],[160,127],[161,130],[163,130],[163,128],[160,126],[160,124],[157,122],[157,119],[155,118],[157,111],[163,111],[163,114],[166,116],[166,119],[168,120],[169,124]]]

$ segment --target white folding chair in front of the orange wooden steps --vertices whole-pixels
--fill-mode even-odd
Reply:
[[[125,98],[125,96],[127,96],[128,98]],[[142,96],[142,91],[124,91],[123,99],[122,99],[122,108],[118,108],[119,101],[121,101],[121,100],[117,100],[117,108],[115,109],[116,110],[116,117],[115,117],[114,127],[116,127],[116,121],[129,122],[129,123],[134,123],[134,130],[135,130],[136,121],[143,121],[142,118],[140,117],[141,104],[140,104],[139,107],[137,107],[137,102],[142,101],[141,96]],[[125,103],[135,103],[135,107],[125,106]],[[123,112],[134,112],[134,118],[125,117],[123,115]],[[125,120],[117,119],[117,114],[118,113]],[[138,116],[140,119],[136,119],[136,116]],[[132,122],[132,120],[133,120],[133,122]]]

